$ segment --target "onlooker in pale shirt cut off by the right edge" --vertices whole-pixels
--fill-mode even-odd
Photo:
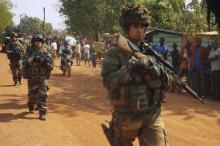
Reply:
[[[212,50],[209,53],[208,60],[211,63],[211,89],[215,100],[220,100],[220,48],[217,40],[212,42]]]

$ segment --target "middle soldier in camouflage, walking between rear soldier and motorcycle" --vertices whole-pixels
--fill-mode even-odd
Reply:
[[[47,112],[48,85],[53,59],[43,48],[44,39],[42,35],[33,36],[32,47],[29,48],[23,60],[23,77],[28,79],[28,107],[34,111],[34,106],[39,109],[39,119],[45,120]]]

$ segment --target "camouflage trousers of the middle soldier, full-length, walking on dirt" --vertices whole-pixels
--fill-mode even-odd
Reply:
[[[37,105],[40,111],[47,111],[48,89],[46,78],[28,79],[28,106]]]

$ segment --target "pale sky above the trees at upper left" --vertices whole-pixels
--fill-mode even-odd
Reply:
[[[13,21],[19,24],[20,16],[38,17],[43,20],[43,7],[46,10],[46,22],[53,25],[55,29],[65,29],[64,16],[59,14],[59,0],[11,0],[14,4],[12,12],[14,13]]]

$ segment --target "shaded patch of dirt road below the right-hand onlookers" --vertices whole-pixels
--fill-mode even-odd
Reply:
[[[220,102],[205,100],[202,104],[187,93],[167,93],[167,99],[163,105],[168,111],[165,116],[183,116],[186,120],[194,118],[195,114],[220,117]]]

